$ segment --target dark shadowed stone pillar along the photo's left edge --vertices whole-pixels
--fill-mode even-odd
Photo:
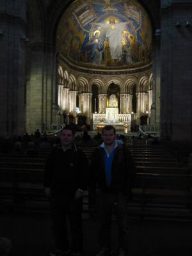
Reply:
[[[26,128],[26,9],[26,0],[0,3],[0,136],[22,135]]]

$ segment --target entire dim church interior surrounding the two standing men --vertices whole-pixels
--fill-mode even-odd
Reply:
[[[192,0],[2,0],[0,19],[0,237],[10,256],[53,246],[42,180],[66,124],[88,161],[105,125],[131,151],[130,255],[189,255]],[[97,250],[96,215],[86,191],[84,256]],[[116,246],[114,221],[112,232]]]

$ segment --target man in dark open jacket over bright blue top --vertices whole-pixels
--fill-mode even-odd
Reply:
[[[125,216],[127,200],[131,197],[134,164],[128,148],[116,141],[115,128],[106,125],[102,130],[103,143],[96,148],[91,162],[91,190],[95,191],[100,221],[97,256],[109,256],[110,226],[113,208],[118,223],[119,256],[127,255]],[[122,141],[121,141],[122,142]]]

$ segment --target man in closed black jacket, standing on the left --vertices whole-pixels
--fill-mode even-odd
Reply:
[[[51,256],[80,256],[83,250],[82,196],[88,184],[88,161],[73,143],[74,131],[65,125],[61,144],[52,150],[45,164],[45,195],[50,198],[56,251]],[[67,236],[67,216],[72,234]]]

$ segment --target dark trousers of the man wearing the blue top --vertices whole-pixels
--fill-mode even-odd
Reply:
[[[99,246],[111,250],[111,216],[113,210],[118,225],[118,243],[120,248],[126,250],[127,239],[125,230],[126,196],[122,193],[116,195],[97,191],[97,213],[99,216]]]

